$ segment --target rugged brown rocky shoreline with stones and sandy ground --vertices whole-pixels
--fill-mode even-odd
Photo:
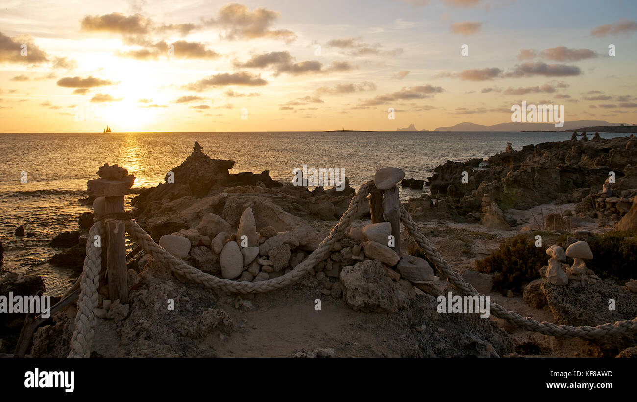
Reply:
[[[431,195],[410,198],[404,206],[465,281],[507,308],[522,308],[524,314],[540,321],[569,325],[632,319],[637,315],[637,303],[633,302],[629,302],[633,307],[624,306],[617,314],[593,312],[582,319],[578,312],[582,303],[588,303],[589,309],[598,308],[590,305],[590,300],[599,301],[613,293],[623,295],[625,305],[637,297],[637,282],[629,277],[599,277],[577,260],[584,254],[585,258],[592,255],[568,250],[591,233],[637,229],[635,141],[631,136],[549,142],[520,151],[507,149],[488,158],[487,163],[480,158],[447,161],[428,179]],[[132,216],[155,242],[193,267],[225,279],[258,282],[290,272],[305,260],[355,195],[347,178],[343,191],[322,187],[310,191],[306,186],[274,181],[268,170],[230,174],[233,166],[232,160],[210,158],[196,143],[192,154],[166,175],[166,183],[143,189],[132,200]],[[614,176],[609,176],[610,172]],[[424,182],[404,179],[402,184],[422,188]],[[542,209],[541,214],[534,214],[534,209],[537,212],[538,206],[547,204],[553,207],[552,213],[545,215]],[[142,253],[132,258],[128,265],[129,304],[108,300],[108,292],[99,296],[94,356],[236,356],[229,350],[240,347],[231,347],[238,337],[247,339],[248,350],[253,351],[251,342],[279,345],[272,351],[274,356],[517,357],[536,354],[537,350],[557,356],[555,342],[511,328],[502,320],[480,319],[476,314],[438,314],[436,298],[455,289],[434,276],[431,261],[408,235],[401,235],[401,248],[409,253],[400,258],[383,241],[389,223],[372,224],[369,218],[366,202],[348,235],[310,270],[310,275],[289,288],[264,295],[210,291],[189,284],[151,256]],[[68,247],[54,257],[59,264],[79,263],[81,267],[82,243],[92,222],[92,214],[83,214],[80,231],[56,237],[57,246]],[[489,256],[519,233],[536,232],[545,236],[542,249],[551,256],[548,266],[533,268],[537,274],[530,278],[533,281],[524,283],[523,294],[494,293],[494,274],[476,272],[475,258]],[[551,244],[559,235],[568,237],[564,240],[564,246],[570,246],[566,254]],[[573,253],[577,254],[573,266],[562,265]],[[5,275],[0,295],[25,279]],[[628,281],[626,285],[624,281]],[[31,278],[29,282],[36,281]],[[44,290],[38,284],[31,288],[25,289],[25,294]],[[349,321],[341,324],[352,335],[307,335],[308,328],[317,325],[311,308],[317,297],[348,317]],[[179,319],[158,308],[167,299],[178,301]],[[75,305],[56,314],[54,324],[38,329],[32,356],[68,353],[76,314],[73,308]],[[292,312],[296,310],[301,312]],[[273,335],[278,328],[264,321],[264,317],[280,314],[301,314],[287,324],[290,331],[307,336],[280,345],[281,339]],[[338,321],[333,316],[331,319]],[[257,324],[250,327],[250,322],[259,322],[259,329]],[[12,326],[19,328],[19,322]],[[397,330],[406,336],[385,342],[396,338]],[[373,347],[343,347],[346,338],[362,339]],[[529,349],[529,344],[534,347]],[[8,342],[4,345],[0,353],[10,352]],[[616,342],[576,340],[568,356],[626,356],[635,353],[635,345],[634,335]]]

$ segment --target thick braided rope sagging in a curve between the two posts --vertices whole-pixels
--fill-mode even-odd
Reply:
[[[333,244],[343,238],[345,230],[347,230],[347,228],[352,224],[352,221],[354,221],[359,207],[361,207],[363,202],[366,202],[365,197],[369,194],[369,186],[370,183],[362,184],[356,196],[350,201],[350,206],[347,211],[345,211],[345,214],[341,216],[338,224],[332,228],[329,236],[321,242],[318,248],[315,249],[308,258],[287,274],[273,279],[268,279],[267,281],[239,282],[206,274],[197,268],[190,267],[190,265],[184,261],[168,253],[168,251],[166,251],[163,247],[155,243],[150,235],[148,235],[148,233],[146,233],[140,225],[134,221],[134,219],[131,219],[131,221],[126,223],[126,230],[137,244],[139,244],[140,247],[148,254],[152,255],[155,260],[168,266],[174,272],[185,276],[190,281],[201,284],[206,288],[225,289],[233,293],[266,293],[276,289],[281,289],[289,284],[299,281],[320,261],[325,260],[327,254],[331,251]]]

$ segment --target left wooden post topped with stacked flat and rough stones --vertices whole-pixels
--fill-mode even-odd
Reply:
[[[103,202],[97,202],[100,211],[96,209],[96,219],[101,216],[112,216],[124,213],[124,195],[129,191],[135,177],[128,174],[128,170],[105,163],[97,171],[99,179],[89,180],[87,187],[89,196],[104,197]],[[100,214],[101,216],[97,216]],[[126,241],[125,225],[122,221],[106,219],[106,239],[102,240],[102,247],[106,244],[106,269],[108,272],[108,296],[111,300],[128,303],[128,277],[126,271]],[[94,241],[94,239],[89,239]]]

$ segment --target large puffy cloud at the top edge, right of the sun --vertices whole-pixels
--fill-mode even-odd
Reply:
[[[255,8],[250,11],[243,4],[227,4],[219,9],[217,18],[204,21],[208,26],[221,27],[225,30],[227,39],[282,39],[286,42],[294,41],[296,34],[287,29],[270,29],[281,13],[266,8]]]

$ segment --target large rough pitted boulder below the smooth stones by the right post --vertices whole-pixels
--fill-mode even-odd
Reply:
[[[395,282],[385,276],[378,260],[367,260],[343,268],[340,274],[345,302],[354,311],[398,310]]]

